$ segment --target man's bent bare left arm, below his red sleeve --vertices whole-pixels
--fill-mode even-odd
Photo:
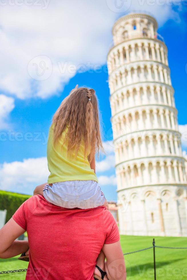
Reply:
[[[28,241],[15,240],[25,229],[20,227],[11,218],[0,230],[0,258],[8,259],[26,252],[29,248]]]

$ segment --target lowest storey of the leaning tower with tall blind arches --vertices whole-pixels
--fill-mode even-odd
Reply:
[[[158,185],[118,191],[120,234],[187,236],[187,187]]]

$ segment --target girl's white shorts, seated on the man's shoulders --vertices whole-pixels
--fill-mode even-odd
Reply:
[[[43,188],[45,199],[64,208],[90,209],[102,206],[104,193],[96,181],[65,181],[47,184]]]

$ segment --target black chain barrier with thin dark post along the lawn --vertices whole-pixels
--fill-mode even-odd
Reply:
[[[186,249],[187,247],[164,247],[164,246],[156,246],[155,245],[155,240],[153,239],[153,246],[148,247],[148,248],[144,248],[144,249],[140,249],[137,251],[133,251],[133,252],[129,252],[129,253],[125,253],[124,256],[126,255],[130,255],[130,254],[134,254],[134,253],[138,253],[138,252],[142,252],[142,251],[146,251],[149,249],[153,248],[153,255],[154,255],[154,279],[156,280],[156,261],[155,261],[155,248],[161,248],[161,249]],[[14,273],[14,272],[23,272],[23,271],[27,271],[27,268],[25,269],[16,269],[16,270],[8,270],[8,271],[0,271],[0,274],[8,274],[8,273]]]

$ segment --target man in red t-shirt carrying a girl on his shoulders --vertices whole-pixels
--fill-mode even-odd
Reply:
[[[27,231],[28,241],[15,239]],[[92,280],[96,263],[109,280],[126,280],[119,231],[104,206],[94,209],[66,209],[41,195],[25,201],[0,230],[0,258],[11,258],[28,248],[26,279]],[[97,258],[100,251],[106,256]],[[105,258],[105,257],[104,257]]]

